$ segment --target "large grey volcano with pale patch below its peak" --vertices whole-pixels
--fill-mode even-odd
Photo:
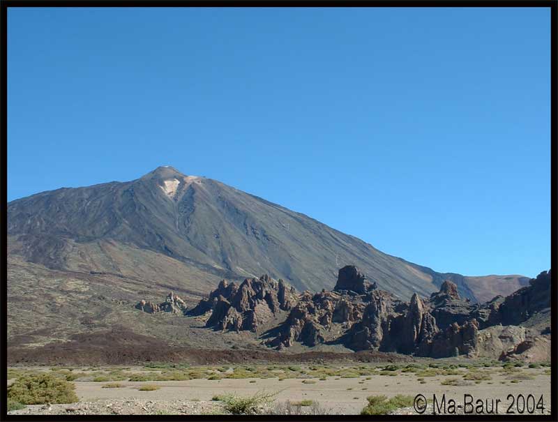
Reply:
[[[8,253],[58,271],[132,278],[204,294],[220,278],[269,273],[296,289],[331,289],[337,269],[359,266],[402,299],[445,278],[485,300],[518,289],[521,276],[437,273],[386,255],[308,216],[212,179],[158,167],[129,182],[62,188],[8,204]],[[505,280],[505,282],[500,282]]]

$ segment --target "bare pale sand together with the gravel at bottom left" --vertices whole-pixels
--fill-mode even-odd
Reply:
[[[490,372],[490,371],[488,371]],[[274,405],[286,402],[312,400],[319,405],[322,414],[359,414],[368,404],[369,395],[386,395],[393,397],[397,394],[416,395],[421,393],[427,398],[428,405],[432,404],[432,397],[446,400],[453,399],[462,403],[465,394],[472,394],[474,400],[502,400],[499,413],[505,413],[508,404],[508,394],[515,398],[519,395],[527,398],[529,394],[536,400],[543,395],[545,414],[550,413],[550,376],[542,375],[541,369],[527,369],[526,374],[533,379],[525,379],[512,384],[505,375],[492,373],[490,382],[463,383],[459,386],[442,385],[448,376],[425,377],[419,384],[417,377],[411,373],[402,373],[395,377],[374,375],[358,378],[327,377],[321,381],[317,379],[191,379],[188,381],[165,382],[119,382],[123,388],[103,389],[106,382],[75,382],[76,393],[80,402],[71,405],[28,406],[25,409],[10,414],[212,414],[223,413],[220,402],[211,399],[214,395],[231,393],[238,396],[249,396],[259,391],[276,392]],[[453,377],[455,378],[455,377]],[[306,381],[306,383],[305,383]],[[502,383],[506,384],[502,384]],[[146,384],[156,385],[154,391],[140,391]],[[532,406],[531,406],[532,407]],[[67,410],[70,409],[70,410]],[[425,414],[431,412],[427,408]],[[288,409],[287,409],[288,410]],[[308,412],[310,409],[299,409]],[[400,409],[398,414],[416,414],[414,409]],[[462,412],[462,410],[458,410]],[[516,412],[518,414],[518,412]],[[524,413],[526,414],[526,413]],[[540,409],[534,409],[531,414],[541,414]]]

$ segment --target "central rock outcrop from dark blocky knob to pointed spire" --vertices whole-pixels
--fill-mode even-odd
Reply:
[[[340,342],[354,350],[414,353],[437,332],[428,305],[418,295],[410,303],[401,302],[388,292],[370,288],[353,266],[339,271],[333,292],[303,294],[278,336],[266,344],[280,349],[293,342],[308,346]]]

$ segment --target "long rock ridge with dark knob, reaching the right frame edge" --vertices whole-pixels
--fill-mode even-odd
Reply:
[[[482,304],[461,299],[450,281],[430,298],[414,294],[407,303],[375,289],[356,267],[346,266],[339,271],[333,291],[305,292],[278,335],[266,340],[266,345],[282,349],[294,342],[308,346],[340,343],[354,350],[436,358],[462,354],[497,357],[531,335],[525,328],[506,326],[506,322],[525,321],[532,312],[550,306],[550,294],[543,298],[534,289],[550,289],[550,276],[541,273],[531,286]],[[507,308],[513,305],[512,313]]]

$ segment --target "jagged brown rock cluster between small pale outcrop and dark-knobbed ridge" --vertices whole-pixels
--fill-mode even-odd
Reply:
[[[257,331],[280,310],[290,310],[293,303],[294,289],[265,274],[259,279],[246,278],[240,285],[221,281],[209,298],[199,301],[188,315],[211,312],[206,326],[222,331]]]

